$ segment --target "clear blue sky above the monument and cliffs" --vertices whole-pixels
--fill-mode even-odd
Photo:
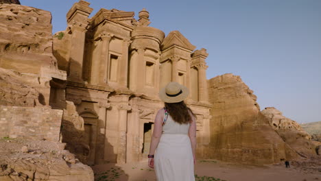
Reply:
[[[53,33],[66,28],[75,0],[21,0],[52,13]],[[320,0],[88,0],[99,8],[150,12],[150,26],[179,30],[209,53],[207,78],[240,75],[261,109],[307,123],[321,121]]]

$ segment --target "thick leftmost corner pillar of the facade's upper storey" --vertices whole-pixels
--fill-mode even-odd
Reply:
[[[73,21],[73,25],[69,27],[69,30],[71,32],[71,46],[69,51],[68,78],[74,82],[82,82],[86,25]]]

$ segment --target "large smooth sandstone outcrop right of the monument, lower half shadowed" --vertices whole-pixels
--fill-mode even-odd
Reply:
[[[298,158],[261,114],[257,97],[239,76],[209,80],[211,158],[246,164],[273,164]]]

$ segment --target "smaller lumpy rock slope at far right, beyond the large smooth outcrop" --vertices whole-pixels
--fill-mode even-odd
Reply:
[[[316,155],[316,145],[311,141],[311,136],[296,121],[284,117],[281,111],[273,107],[265,108],[261,113],[269,119],[270,125],[283,141],[298,154],[305,157]]]

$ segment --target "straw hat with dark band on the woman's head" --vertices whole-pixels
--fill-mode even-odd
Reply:
[[[189,95],[189,89],[177,82],[169,82],[165,88],[159,91],[159,98],[167,103],[184,101]]]

